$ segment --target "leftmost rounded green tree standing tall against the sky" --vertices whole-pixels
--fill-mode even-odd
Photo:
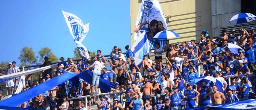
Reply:
[[[19,56],[20,62],[33,65],[37,62],[35,52],[32,48],[23,47]]]

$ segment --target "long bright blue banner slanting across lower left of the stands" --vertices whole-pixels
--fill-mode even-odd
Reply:
[[[23,102],[28,101],[29,99],[48,91],[49,89],[65,82],[66,80],[76,76],[76,73],[73,72],[67,72],[65,74],[62,74],[60,76],[57,76],[49,81],[46,81],[44,83],[41,83],[35,87],[30,88],[27,91],[21,92],[19,94],[16,94],[10,98],[7,98],[0,102],[0,106],[10,106],[10,107],[16,107],[19,104],[22,104]]]

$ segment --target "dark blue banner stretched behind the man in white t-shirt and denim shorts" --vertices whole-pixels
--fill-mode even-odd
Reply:
[[[89,70],[83,71],[77,75],[84,81],[92,84],[92,72]],[[111,88],[115,88],[115,84],[100,77],[99,88],[103,91],[110,92]]]

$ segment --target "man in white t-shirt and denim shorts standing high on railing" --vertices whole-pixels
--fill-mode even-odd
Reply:
[[[104,63],[102,62],[102,59],[104,60]],[[97,89],[99,86],[99,81],[100,81],[100,74],[101,70],[103,68],[103,65],[107,65],[105,57],[99,57],[98,61],[95,61],[90,67],[86,68],[86,70],[89,70],[89,68],[94,67],[94,71],[92,74],[92,87],[91,91],[93,92],[93,87],[95,87],[95,92],[94,94],[98,94]],[[93,93],[92,93],[93,94]]]

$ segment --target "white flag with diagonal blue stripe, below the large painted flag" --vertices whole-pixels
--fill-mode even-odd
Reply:
[[[138,37],[137,40],[134,42],[131,51],[135,59],[135,64],[137,64],[138,67],[141,68],[143,56],[148,56],[149,53],[148,39],[145,31],[142,32],[140,37]]]

